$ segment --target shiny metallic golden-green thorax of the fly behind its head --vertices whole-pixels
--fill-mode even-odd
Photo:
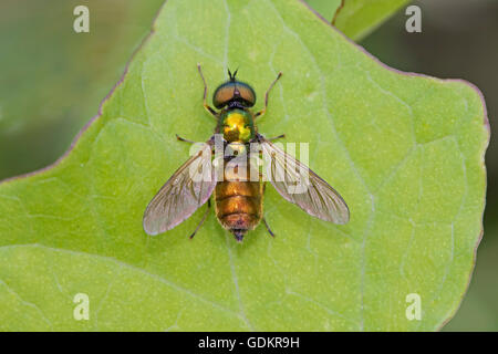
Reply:
[[[221,113],[219,133],[228,143],[246,144],[256,136],[255,121],[251,112],[232,108]]]

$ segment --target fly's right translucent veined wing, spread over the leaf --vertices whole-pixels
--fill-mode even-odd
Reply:
[[[270,179],[277,191],[309,215],[334,223],[346,223],[350,210],[335,189],[308,166],[259,136]]]

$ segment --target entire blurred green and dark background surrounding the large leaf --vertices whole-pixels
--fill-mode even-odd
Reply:
[[[44,167],[68,149],[120,80],[162,3],[0,2],[0,179]],[[492,121],[498,115],[498,1],[413,3],[422,8],[422,33],[405,31],[403,8],[360,44],[402,71],[476,84],[486,97],[491,136],[498,133]],[[79,4],[90,8],[90,33],[73,31]],[[498,331],[498,146],[492,138],[486,162],[485,235],[468,293],[444,331]]]

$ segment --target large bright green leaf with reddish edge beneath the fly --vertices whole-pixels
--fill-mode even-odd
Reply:
[[[435,330],[467,289],[489,138],[478,91],[396,72],[300,1],[169,0],[123,81],[56,165],[0,185],[1,330]],[[204,210],[157,237],[142,216],[206,140],[201,105],[239,67],[259,131],[310,143],[351,221],[314,219],[267,188],[243,243]],[[262,107],[260,98],[256,110]],[[201,208],[204,209],[204,208]],[[73,299],[90,299],[76,321]],[[422,320],[406,317],[407,294]]]

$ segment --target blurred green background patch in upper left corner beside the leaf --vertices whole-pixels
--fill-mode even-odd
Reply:
[[[0,178],[43,167],[70,146],[160,3],[86,0],[90,32],[75,33],[77,1],[1,1]]]

